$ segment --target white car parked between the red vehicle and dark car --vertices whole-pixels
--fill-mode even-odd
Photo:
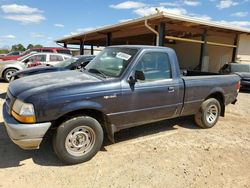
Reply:
[[[69,58],[71,58],[71,56],[66,54],[35,53],[28,54],[17,60],[2,61],[0,62],[0,78],[3,78],[5,81],[9,82],[12,74],[19,70],[32,67],[30,64],[56,64]]]

